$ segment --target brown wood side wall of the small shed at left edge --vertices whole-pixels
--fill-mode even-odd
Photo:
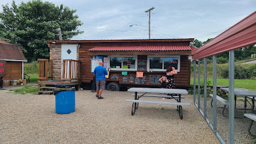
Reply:
[[[6,61],[6,76],[3,80],[22,79],[22,62]]]

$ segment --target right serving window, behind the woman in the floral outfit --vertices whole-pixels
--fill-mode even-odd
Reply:
[[[171,65],[177,72],[180,72],[180,56],[179,55],[149,55],[147,71],[166,71]]]

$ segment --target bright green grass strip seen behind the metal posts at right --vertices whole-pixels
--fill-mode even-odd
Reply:
[[[201,79],[201,80],[203,80],[203,79]],[[213,83],[211,82],[210,85],[212,85],[212,84]],[[194,78],[190,79],[190,85],[194,85]],[[227,85],[228,86],[228,79],[217,79],[217,85]],[[235,79],[234,80],[235,88],[244,88],[244,89],[248,89],[249,91],[256,92],[255,85],[256,85],[256,80],[251,80],[251,79]]]

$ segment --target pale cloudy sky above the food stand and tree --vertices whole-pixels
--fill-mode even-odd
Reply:
[[[16,4],[20,2],[16,0]],[[203,42],[221,34],[256,10],[255,0],[49,2],[77,10],[79,20],[84,23],[78,29],[84,34],[72,40],[148,39],[148,13],[145,11],[155,7],[151,11],[151,39],[196,38]],[[11,0],[0,1],[1,5],[7,3],[10,7]]]

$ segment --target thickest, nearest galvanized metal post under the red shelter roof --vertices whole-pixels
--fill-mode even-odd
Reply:
[[[229,92],[228,92],[228,121],[230,127],[230,143],[234,143],[234,50],[229,58]]]

